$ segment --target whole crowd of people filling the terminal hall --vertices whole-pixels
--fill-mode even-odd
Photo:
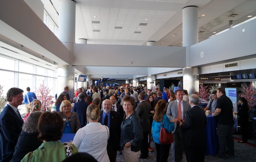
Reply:
[[[247,101],[241,97],[239,111],[233,112],[223,88],[212,91],[212,99],[201,109],[202,99],[197,93],[188,95],[186,90],[91,86],[87,91],[78,88],[70,99],[69,89],[64,87],[64,92],[56,96],[57,109],[51,113],[42,113],[42,103],[29,87],[27,91],[26,95],[19,88],[7,92],[8,103],[0,114],[0,162],[72,161],[72,156],[116,162],[117,154],[123,154],[127,162],[138,162],[153,151],[151,138],[157,162],[167,162],[170,148],[173,162],[182,161],[183,150],[188,162],[203,162],[206,110],[218,124],[219,158],[225,159],[226,153],[234,156],[233,113],[240,116],[241,130],[247,131]],[[23,101],[31,102],[24,102],[24,119],[17,109]],[[172,144],[160,143],[161,127],[173,134]],[[63,133],[75,133],[72,144],[59,141]],[[239,142],[247,139],[246,133],[242,133]]]

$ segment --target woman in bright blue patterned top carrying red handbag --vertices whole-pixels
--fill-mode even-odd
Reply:
[[[166,109],[166,101],[159,100],[155,107],[156,112],[152,123],[152,137],[156,145],[156,162],[167,162],[170,151],[170,144],[161,144],[159,142],[161,122],[163,122],[163,127],[166,128],[167,132],[174,130],[174,122],[170,122],[168,117],[164,115]]]

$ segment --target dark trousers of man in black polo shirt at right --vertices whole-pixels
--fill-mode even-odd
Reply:
[[[228,154],[234,154],[234,138],[232,135],[232,128],[233,124],[217,124],[217,136],[219,142],[220,157],[226,156],[226,147],[228,148]]]

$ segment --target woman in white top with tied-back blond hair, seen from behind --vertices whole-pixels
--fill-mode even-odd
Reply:
[[[74,137],[74,144],[79,152],[87,152],[98,162],[109,162],[107,144],[109,130],[107,126],[98,122],[100,118],[100,108],[96,104],[87,107],[86,117],[89,123],[80,128]]]

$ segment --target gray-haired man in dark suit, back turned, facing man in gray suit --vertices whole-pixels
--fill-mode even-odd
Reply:
[[[204,162],[206,116],[198,103],[198,95],[190,95],[189,104],[191,109],[186,111],[186,122],[184,124],[180,123],[182,130],[184,130],[184,149],[187,162]]]

